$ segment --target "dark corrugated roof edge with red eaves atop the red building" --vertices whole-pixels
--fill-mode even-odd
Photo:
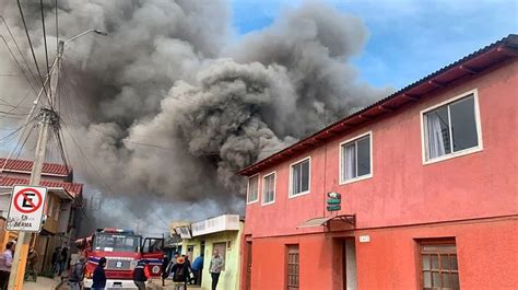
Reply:
[[[503,50],[498,50],[503,49]],[[511,51],[506,51],[505,49],[510,49]],[[448,83],[454,82],[458,79],[466,77],[467,74],[479,73],[482,70],[491,67],[495,63],[504,61],[510,57],[517,57],[518,54],[518,35],[509,34],[507,37],[502,38],[491,45],[485,46],[455,62],[448,65],[424,78],[421,80],[413,82],[412,84],[407,85],[405,88],[390,94],[389,96],[381,98],[374,104],[355,112],[354,114],[346,116],[326,128],[302,139],[301,141],[276,152],[272,155],[258,161],[242,171],[238,172],[240,175],[251,176],[257,172],[261,171],[264,167],[270,167],[280,162],[290,159],[301,151],[307,151],[310,148],[315,148],[321,142],[322,140],[327,140],[332,138],[337,132],[344,131],[344,128],[349,127],[349,123],[352,120],[360,119],[357,123],[354,123],[353,126],[360,125],[361,123],[368,121],[374,119],[376,116],[381,114],[376,114],[375,111],[388,111],[391,112],[399,106],[405,105],[407,102],[400,101],[400,98],[410,98],[410,100],[419,100],[417,97],[424,94],[427,94],[434,91],[434,86],[446,86]],[[487,59],[482,59],[484,56],[487,56]],[[479,63],[474,63],[475,60],[479,60]],[[468,66],[469,65],[469,66]],[[459,72],[463,71],[463,73]],[[440,78],[444,80],[438,81]],[[423,89],[424,88],[424,89]],[[437,89],[437,88],[435,88]],[[420,94],[416,94],[417,97],[413,94],[415,91],[423,91]],[[388,104],[392,104],[388,107]],[[408,102],[410,103],[410,102]],[[368,116],[368,113],[374,112],[374,117]]]

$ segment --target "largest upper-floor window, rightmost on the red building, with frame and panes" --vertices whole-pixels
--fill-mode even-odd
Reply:
[[[480,121],[474,93],[423,113],[425,161],[479,149]]]

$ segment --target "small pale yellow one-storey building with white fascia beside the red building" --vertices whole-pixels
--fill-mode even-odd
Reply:
[[[181,237],[178,253],[189,257],[192,263],[203,256],[201,289],[211,289],[209,266],[214,251],[225,260],[217,288],[239,289],[240,248],[245,220],[239,214],[222,214],[193,223],[175,227],[174,234]]]

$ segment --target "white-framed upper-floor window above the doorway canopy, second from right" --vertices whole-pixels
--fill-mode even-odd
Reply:
[[[363,179],[373,175],[370,146],[370,134],[345,141],[340,146],[340,181],[342,183]]]

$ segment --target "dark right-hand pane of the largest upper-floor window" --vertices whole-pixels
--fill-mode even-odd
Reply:
[[[449,109],[454,136],[454,151],[476,147],[479,139],[476,135],[473,96],[451,104]]]

